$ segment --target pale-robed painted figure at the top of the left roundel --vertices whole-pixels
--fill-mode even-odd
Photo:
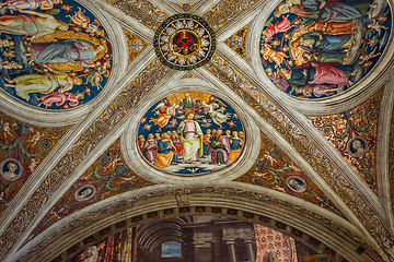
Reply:
[[[55,31],[68,31],[68,24],[56,20],[51,14],[38,13],[31,10],[21,10],[34,15],[2,15],[0,16],[0,34],[25,35],[28,40],[42,37]]]

